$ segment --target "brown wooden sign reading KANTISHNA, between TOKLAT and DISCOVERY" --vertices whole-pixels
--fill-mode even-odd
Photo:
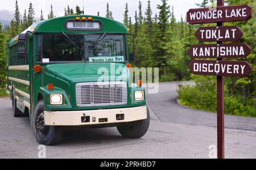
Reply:
[[[192,45],[188,51],[192,58],[245,58],[250,52],[246,43]]]

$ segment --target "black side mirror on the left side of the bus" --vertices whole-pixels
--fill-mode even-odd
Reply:
[[[18,36],[18,59],[27,57],[27,33],[20,33]]]

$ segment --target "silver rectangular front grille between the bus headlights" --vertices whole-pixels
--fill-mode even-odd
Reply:
[[[76,103],[78,107],[127,104],[127,83],[77,83]]]

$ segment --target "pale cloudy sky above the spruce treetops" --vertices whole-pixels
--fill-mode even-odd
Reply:
[[[141,0],[143,13],[146,10],[147,1]],[[185,18],[185,15],[189,8],[195,8],[195,3],[201,3],[203,0],[168,0],[170,6],[174,6],[174,13],[177,20],[180,20],[181,15]],[[47,14],[53,6],[53,11],[56,16],[64,15],[64,8],[68,5],[75,10],[76,5],[81,8],[84,6],[85,14],[87,15],[97,15],[97,11],[100,11],[101,16],[106,14],[106,3],[109,2],[110,10],[113,12],[115,20],[120,22],[123,21],[123,13],[125,11],[125,4],[128,3],[129,16],[134,20],[135,11],[138,11],[139,0],[18,0],[20,13],[23,14],[24,10],[28,8],[29,3],[32,3],[36,11],[36,18],[39,18],[41,8],[43,10],[44,18],[47,18]],[[151,0],[151,8],[153,11],[153,16],[158,13],[157,5],[161,4],[161,0]],[[15,0],[1,1],[1,10],[15,10]]]

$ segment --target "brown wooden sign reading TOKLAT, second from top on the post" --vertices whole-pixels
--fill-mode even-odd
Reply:
[[[237,26],[200,27],[195,36],[201,42],[238,41],[243,36],[243,32]]]

